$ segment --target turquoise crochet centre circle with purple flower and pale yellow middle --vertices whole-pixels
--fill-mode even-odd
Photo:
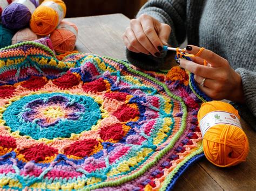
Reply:
[[[71,133],[90,130],[100,118],[93,98],[63,93],[24,96],[3,114],[11,131],[33,139],[70,137]]]

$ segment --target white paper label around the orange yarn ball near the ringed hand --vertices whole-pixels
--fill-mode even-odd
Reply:
[[[226,111],[212,111],[201,118],[199,122],[202,136],[204,137],[207,130],[216,124],[234,125],[242,129],[238,117],[234,114]]]

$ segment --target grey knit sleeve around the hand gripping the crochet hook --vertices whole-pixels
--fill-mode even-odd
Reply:
[[[137,14],[149,15],[156,18],[160,23],[171,26],[171,34],[168,44],[177,47],[186,38],[186,0],[151,0],[148,1]],[[166,52],[161,53],[159,58],[143,53],[134,53],[126,49],[127,60],[133,65],[146,69],[157,70],[164,66]]]

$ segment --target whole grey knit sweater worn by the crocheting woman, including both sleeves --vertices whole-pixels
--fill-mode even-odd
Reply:
[[[227,59],[241,75],[246,104],[236,104],[242,118],[256,130],[255,0],[152,0],[143,13],[169,24],[169,44],[178,47],[187,37],[188,44],[205,47]],[[126,51],[127,59],[144,69],[159,69],[161,58]],[[232,94],[232,93],[231,93]]]

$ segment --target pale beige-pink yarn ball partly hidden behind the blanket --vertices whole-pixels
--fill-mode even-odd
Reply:
[[[40,36],[35,34],[30,28],[21,29],[12,37],[11,44],[21,43],[23,41],[32,41],[39,39]]]

